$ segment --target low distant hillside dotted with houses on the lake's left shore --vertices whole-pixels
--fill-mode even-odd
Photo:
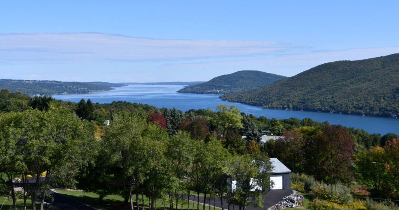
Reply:
[[[112,87],[124,86],[107,82],[62,82],[50,80],[0,79],[0,89],[21,92],[26,95],[54,95],[70,93],[91,93],[93,91],[112,90]]]

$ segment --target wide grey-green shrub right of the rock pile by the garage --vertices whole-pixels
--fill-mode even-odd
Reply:
[[[316,184],[310,193],[319,199],[328,200],[338,204],[351,204],[352,195],[350,189],[342,184]]]

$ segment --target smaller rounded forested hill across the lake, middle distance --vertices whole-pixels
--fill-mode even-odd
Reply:
[[[178,92],[224,94],[262,87],[284,78],[284,76],[263,71],[237,71],[215,77],[199,85],[185,87]]]

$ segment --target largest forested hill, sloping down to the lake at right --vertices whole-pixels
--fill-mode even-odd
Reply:
[[[271,85],[221,96],[265,108],[399,115],[399,53],[324,63]]]

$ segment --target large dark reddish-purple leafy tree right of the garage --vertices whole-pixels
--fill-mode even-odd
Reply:
[[[352,181],[354,142],[340,125],[330,125],[307,139],[306,165],[318,180],[335,184]]]

